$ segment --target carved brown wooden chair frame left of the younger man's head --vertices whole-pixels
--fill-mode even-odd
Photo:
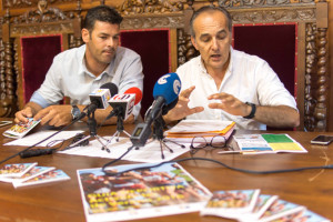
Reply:
[[[22,108],[22,104],[18,104],[21,101],[19,97],[22,95],[22,90],[18,87],[22,85],[22,65],[19,58],[21,49],[18,46],[21,37],[60,33],[68,37],[62,41],[64,50],[82,44],[80,3],[74,9],[62,11],[48,6],[53,2],[56,1],[33,1],[30,3],[36,3],[36,8],[14,16],[10,14],[10,10],[6,10],[4,17],[0,19],[0,117],[13,117],[18,108]],[[16,4],[17,1],[6,3]],[[28,1],[20,3],[24,7]]]

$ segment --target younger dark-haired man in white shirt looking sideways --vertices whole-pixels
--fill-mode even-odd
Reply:
[[[141,58],[134,51],[119,47],[122,17],[107,6],[88,10],[82,33],[84,46],[61,52],[53,59],[46,80],[26,104],[16,113],[16,122],[27,122],[27,118],[41,119],[41,124],[60,127],[69,124],[90,103],[89,93],[107,82],[113,82],[119,93],[137,87],[143,88]],[[68,97],[71,105],[60,105]],[[112,111],[97,110],[98,123],[104,121]],[[133,122],[139,114],[140,103],[127,122]],[[115,118],[107,124],[115,123]]]

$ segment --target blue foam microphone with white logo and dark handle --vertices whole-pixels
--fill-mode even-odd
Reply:
[[[153,101],[151,110],[144,118],[144,122],[139,123],[135,127],[130,138],[134,147],[143,147],[145,144],[149,135],[152,133],[152,122],[162,113],[168,113],[168,105],[170,105],[170,109],[172,109],[176,104],[174,101],[178,100],[180,90],[181,81],[179,75],[174,72],[164,74],[157,81],[153,89],[153,97],[155,100]]]

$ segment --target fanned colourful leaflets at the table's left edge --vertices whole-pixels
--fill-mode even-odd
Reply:
[[[0,169],[0,181],[12,183],[14,188],[69,180],[62,170],[39,167],[38,163],[6,164]]]

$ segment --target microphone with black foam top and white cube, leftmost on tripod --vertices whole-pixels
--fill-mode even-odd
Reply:
[[[97,109],[107,109],[109,107],[108,101],[110,100],[111,97],[113,97],[117,93],[118,93],[118,87],[114,83],[112,82],[104,83],[100,87],[100,89],[95,89],[89,94],[90,104],[87,105],[83,110],[88,110],[88,113],[91,113],[94,112]],[[82,115],[85,114],[87,113]]]

